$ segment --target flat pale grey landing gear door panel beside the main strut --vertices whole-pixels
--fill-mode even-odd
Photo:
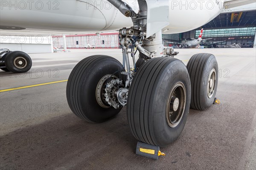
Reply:
[[[147,38],[169,26],[169,0],[146,0],[148,6]]]

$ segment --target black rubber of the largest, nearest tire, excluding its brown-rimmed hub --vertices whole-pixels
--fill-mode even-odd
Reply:
[[[183,82],[185,86],[186,105],[180,123],[172,128],[166,120],[166,105],[176,82]],[[129,89],[127,117],[132,134],[141,142],[168,146],[185,126],[190,99],[190,79],[183,62],[169,57],[150,59],[134,76]]]

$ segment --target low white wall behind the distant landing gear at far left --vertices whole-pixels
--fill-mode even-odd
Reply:
[[[25,53],[52,53],[52,37],[42,36],[0,36],[0,48]]]

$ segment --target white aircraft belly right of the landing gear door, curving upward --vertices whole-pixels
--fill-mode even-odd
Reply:
[[[169,0],[169,26],[165,34],[186,32],[203,26],[223,10],[223,0]]]

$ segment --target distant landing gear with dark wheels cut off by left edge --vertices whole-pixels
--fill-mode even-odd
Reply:
[[[22,51],[0,50],[0,69],[13,73],[26,73],[32,67],[32,60]]]

